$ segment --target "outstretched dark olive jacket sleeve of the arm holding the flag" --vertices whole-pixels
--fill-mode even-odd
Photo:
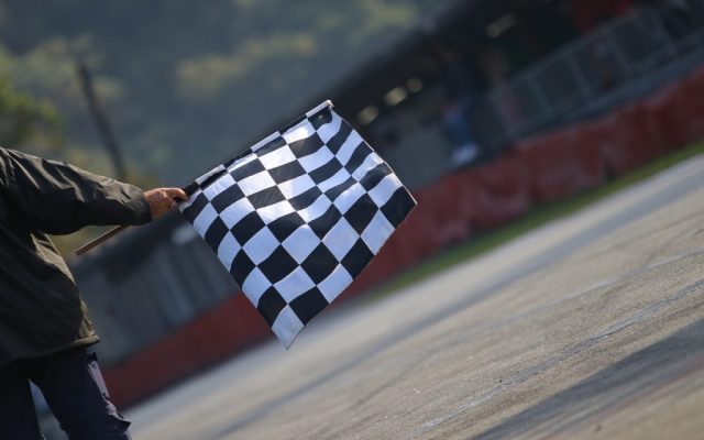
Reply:
[[[0,148],[0,167],[3,197],[42,232],[152,220],[144,194],[132,185],[7,148]]]

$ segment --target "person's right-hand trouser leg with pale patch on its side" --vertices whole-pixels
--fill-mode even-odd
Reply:
[[[29,373],[72,440],[130,439],[130,422],[110,402],[95,354],[67,350],[33,360]]]

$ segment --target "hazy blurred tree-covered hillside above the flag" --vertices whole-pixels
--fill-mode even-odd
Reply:
[[[178,185],[302,111],[449,1],[3,0],[0,41],[34,72],[14,78],[19,88],[51,92],[69,143],[91,147],[84,102],[63,79],[62,57],[86,57],[128,158]]]

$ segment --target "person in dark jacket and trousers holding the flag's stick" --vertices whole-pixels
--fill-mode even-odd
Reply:
[[[42,439],[30,391],[44,395],[70,439],[129,439],[95,353],[73,276],[47,234],[143,224],[185,200],[0,147],[0,439]]]

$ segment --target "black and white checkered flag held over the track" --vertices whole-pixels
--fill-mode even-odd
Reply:
[[[182,212],[286,348],[416,205],[330,101],[186,191]]]

